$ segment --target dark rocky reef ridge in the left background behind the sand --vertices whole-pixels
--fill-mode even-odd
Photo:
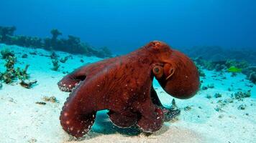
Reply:
[[[62,32],[58,29],[52,29],[50,31],[52,36],[44,39],[36,36],[14,35],[15,30],[15,26],[0,26],[0,43],[65,51],[71,54],[85,54],[86,56],[97,56],[99,58],[111,57],[112,55],[108,48],[95,49],[93,46],[81,42],[80,38],[76,36],[68,35],[68,39],[59,39],[58,36],[62,35]]]

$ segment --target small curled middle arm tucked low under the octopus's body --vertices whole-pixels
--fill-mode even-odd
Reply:
[[[110,121],[117,127],[127,128],[132,127],[137,122],[137,114],[129,111],[124,112],[112,112],[109,111]]]

